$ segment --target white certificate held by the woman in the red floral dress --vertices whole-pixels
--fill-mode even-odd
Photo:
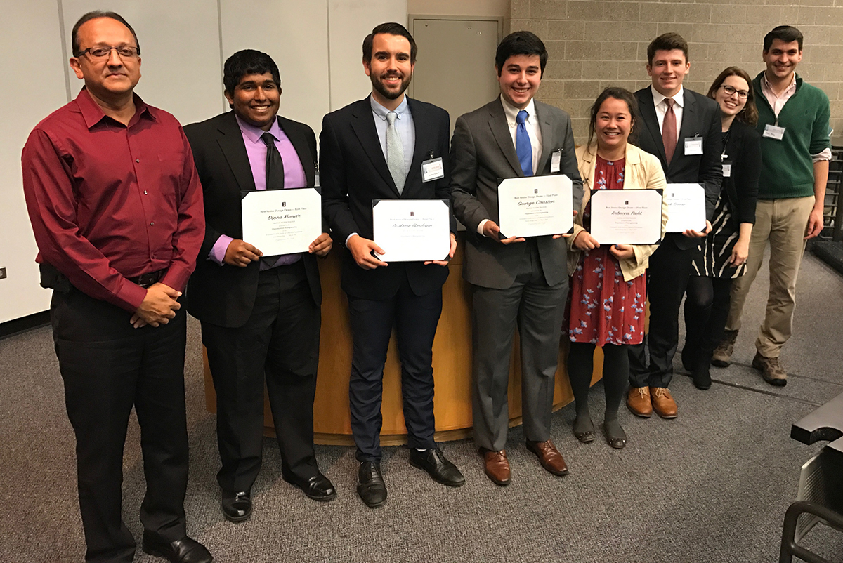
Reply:
[[[662,190],[592,190],[591,236],[599,244],[662,239]]]

